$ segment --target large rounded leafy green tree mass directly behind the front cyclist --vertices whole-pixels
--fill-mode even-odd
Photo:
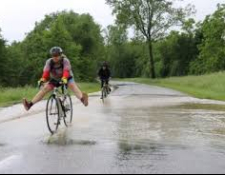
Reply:
[[[13,47],[21,51],[20,60],[24,63],[21,77],[28,77],[22,80],[22,85],[36,83],[49,58],[49,50],[55,45],[62,47],[70,59],[76,79],[94,80],[97,62],[104,57],[101,27],[89,14],[62,11],[36,22],[24,41]]]

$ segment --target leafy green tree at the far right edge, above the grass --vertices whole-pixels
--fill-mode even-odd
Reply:
[[[192,62],[191,72],[204,74],[225,70],[225,4],[219,4],[212,15],[206,17],[199,31],[202,43],[198,59]]]

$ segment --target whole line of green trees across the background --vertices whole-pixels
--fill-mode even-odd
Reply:
[[[106,2],[117,20],[104,30],[90,14],[62,11],[36,22],[21,42],[8,45],[0,35],[0,86],[35,85],[49,49],[56,45],[64,49],[79,81],[94,81],[105,60],[118,78],[202,75],[225,69],[225,4],[196,22],[189,18],[192,6],[175,8],[174,1]]]

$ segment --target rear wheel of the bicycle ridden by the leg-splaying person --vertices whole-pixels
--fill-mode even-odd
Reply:
[[[68,127],[73,121],[73,102],[70,95],[63,101],[64,123]]]

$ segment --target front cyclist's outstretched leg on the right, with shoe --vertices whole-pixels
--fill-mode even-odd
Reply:
[[[88,95],[83,93],[77,84],[75,83],[74,79],[70,79],[68,82],[69,89],[75,94],[75,96],[82,101],[85,106],[88,106]]]

